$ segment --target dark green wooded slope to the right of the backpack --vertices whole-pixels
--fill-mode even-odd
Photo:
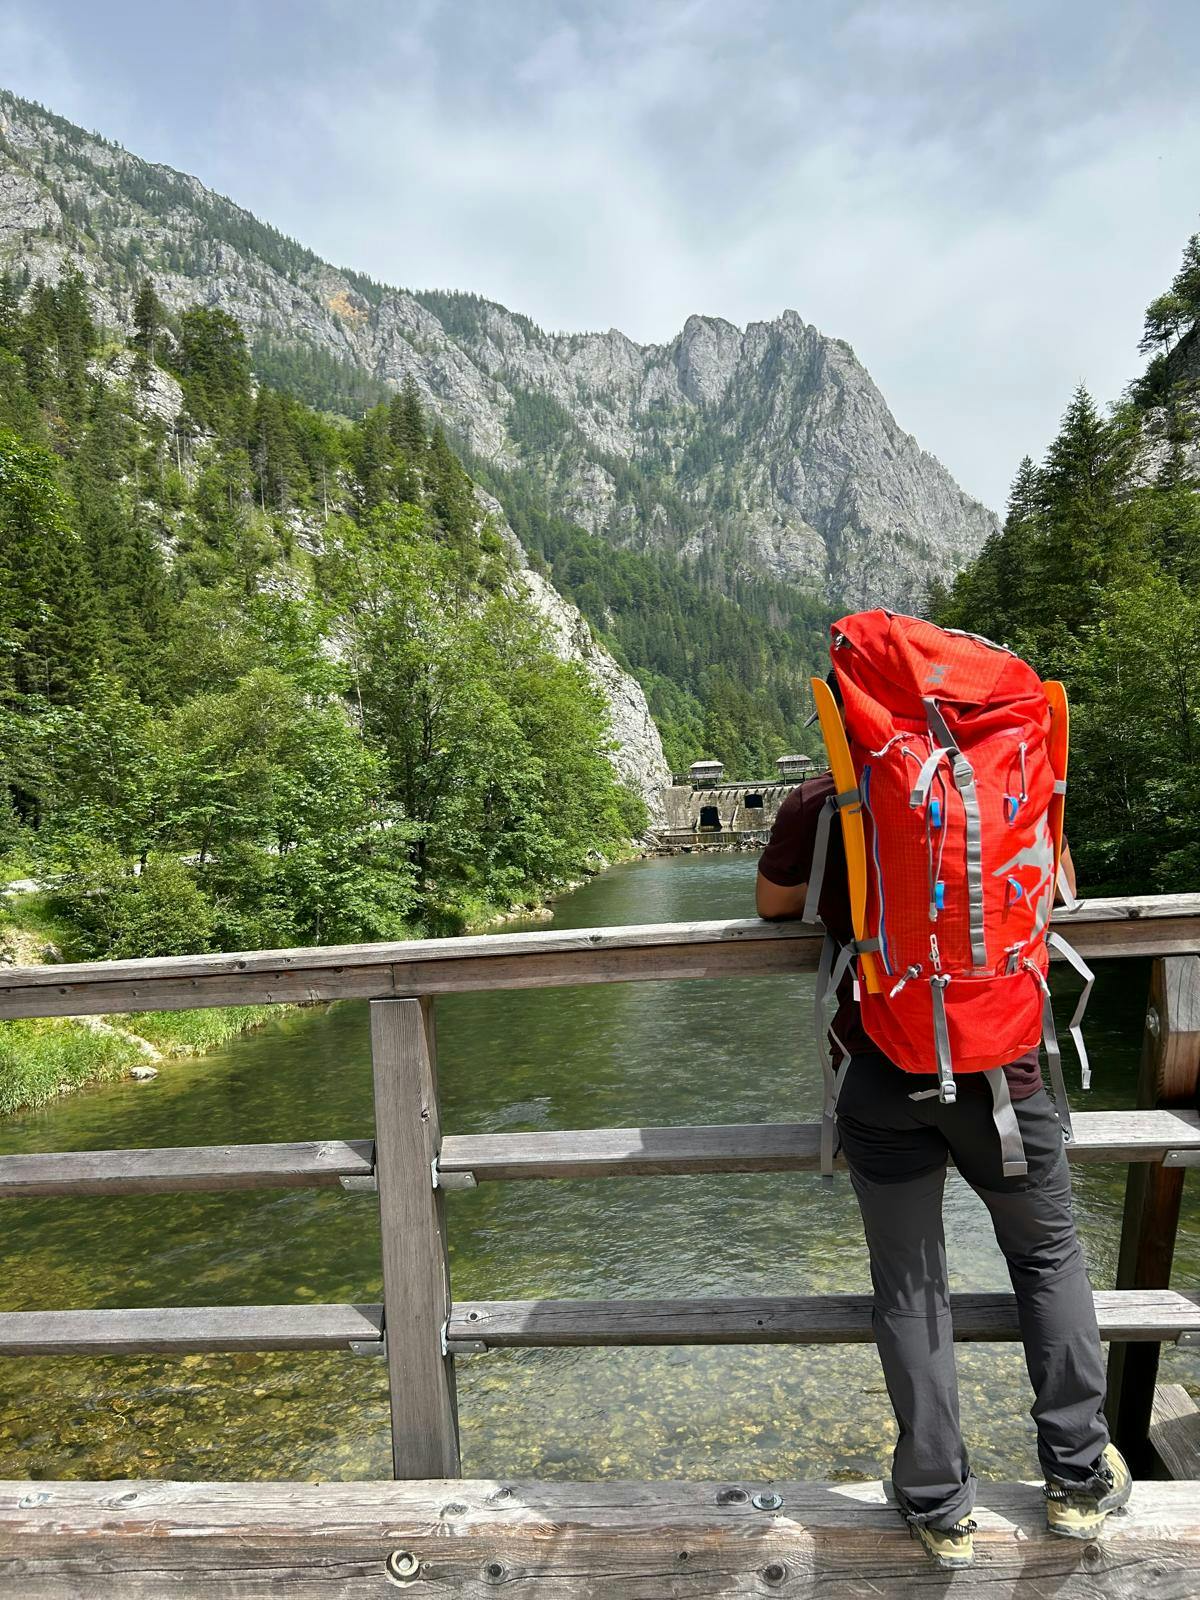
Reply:
[[[1200,880],[1200,235],[1146,314],[1150,362],[1109,414],[1077,389],[1021,462],[1003,530],[933,614],[1072,696],[1067,827],[1090,883]]]

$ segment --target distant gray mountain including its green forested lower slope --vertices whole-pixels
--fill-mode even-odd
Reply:
[[[829,618],[910,608],[995,520],[891,416],[842,339],[786,310],[664,344],[547,333],[478,294],[333,267],[206,189],[0,90],[0,266],[64,256],[115,326],[152,280],[221,306],[254,371],[358,418],[416,384],[526,549],[650,694],[675,768],[763,776],[805,747]],[[814,746],[810,742],[810,749]]]

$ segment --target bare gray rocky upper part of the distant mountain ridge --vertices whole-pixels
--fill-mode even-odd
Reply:
[[[80,267],[117,325],[150,277],[181,310],[237,315],[259,371],[331,408],[411,378],[504,499],[533,472],[554,512],[640,550],[784,579],[846,605],[914,605],[995,526],[906,434],[848,344],[795,312],[691,317],[667,344],[544,333],[472,294],[341,270],[195,178],[0,93],[0,264]]]

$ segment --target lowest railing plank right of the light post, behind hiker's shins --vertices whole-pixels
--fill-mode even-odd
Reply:
[[[1019,1338],[1011,1294],[954,1294],[960,1341]],[[1178,1339],[1200,1331],[1200,1296],[1176,1290],[1098,1290],[1104,1339]],[[864,1344],[869,1294],[744,1296],[710,1299],[456,1301],[451,1339],[490,1349],[624,1344]]]

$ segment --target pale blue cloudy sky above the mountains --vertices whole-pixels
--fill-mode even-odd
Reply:
[[[1195,0],[0,0],[0,83],[339,266],[666,342],[797,310],[1000,507],[1200,213]]]

